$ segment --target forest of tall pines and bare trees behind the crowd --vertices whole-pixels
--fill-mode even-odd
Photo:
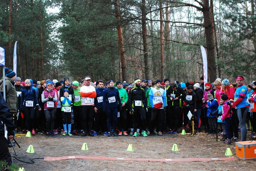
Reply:
[[[0,0],[0,46],[17,76],[255,80],[254,0]],[[0,71],[0,73],[2,70]]]

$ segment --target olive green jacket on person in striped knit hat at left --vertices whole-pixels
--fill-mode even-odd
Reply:
[[[4,85],[4,83],[1,84],[0,91],[3,91],[3,88],[4,88],[3,85]],[[10,108],[10,113],[18,113],[17,93],[16,93],[16,89],[14,87],[14,81],[12,81],[11,78],[5,77],[5,85],[7,86],[6,103],[7,103],[8,107]]]

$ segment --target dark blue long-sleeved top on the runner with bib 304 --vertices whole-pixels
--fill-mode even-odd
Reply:
[[[111,99],[111,97],[112,97],[112,99]],[[115,102],[110,102],[109,100],[115,101]],[[121,106],[122,103],[120,100],[118,90],[115,87],[113,87],[113,88],[109,87],[108,89],[105,89],[104,94],[103,94],[102,109],[117,107],[118,106],[117,101],[119,103],[119,106]]]

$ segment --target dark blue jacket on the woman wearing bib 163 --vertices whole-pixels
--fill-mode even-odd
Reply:
[[[20,108],[21,109],[23,108],[24,104],[26,105],[26,100],[34,101],[33,106],[38,105],[38,101],[37,101],[36,94],[35,94],[35,89],[30,87],[30,89],[24,88],[21,91],[21,100],[20,100]]]

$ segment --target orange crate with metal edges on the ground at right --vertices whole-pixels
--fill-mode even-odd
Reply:
[[[244,160],[256,159],[256,141],[236,142],[236,156]]]

